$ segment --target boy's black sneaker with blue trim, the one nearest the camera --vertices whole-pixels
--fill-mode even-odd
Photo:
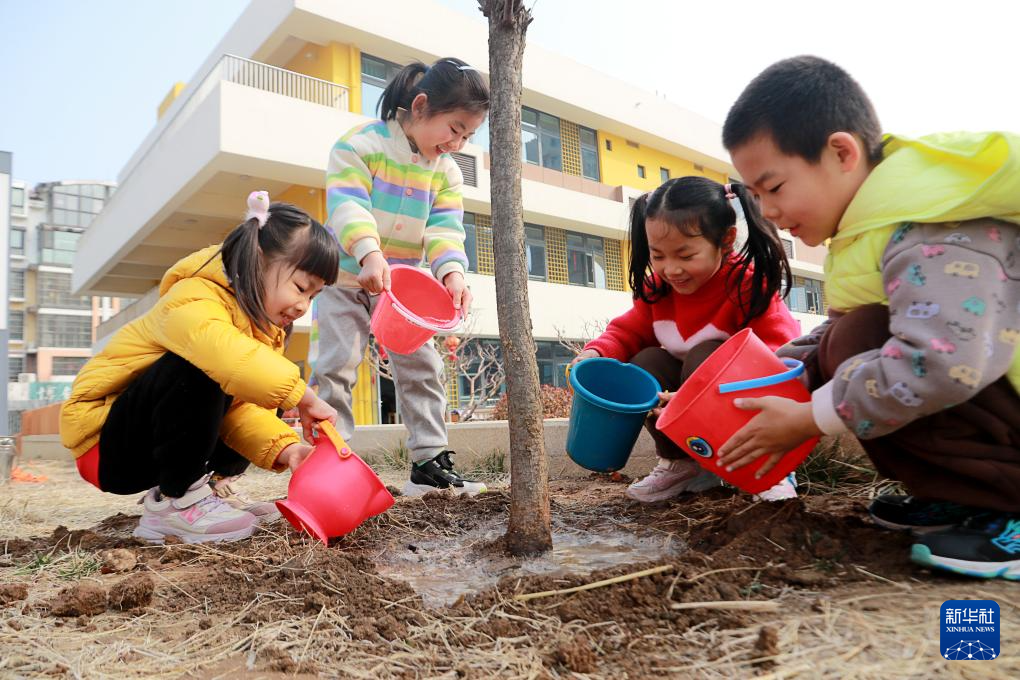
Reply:
[[[984,513],[918,538],[910,559],[924,567],[1020,581],[1020,515]]]

